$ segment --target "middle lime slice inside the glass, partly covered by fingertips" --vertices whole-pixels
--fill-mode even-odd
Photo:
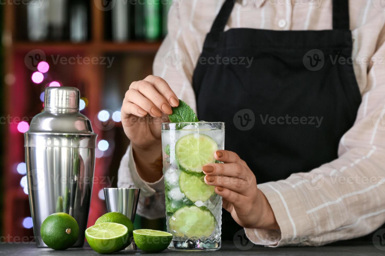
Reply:
[[[194,203],[198,200],[206,201],[213,195],[214,186],[204,183],[204,176],[195,173],[181,172],[179,175],[179,188]]]

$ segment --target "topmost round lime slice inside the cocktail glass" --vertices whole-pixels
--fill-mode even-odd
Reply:
[[[215,162],[214,152],[218,144],[204,134],[188,134],[181,137],[175,145],[176,157],[182,169],[202,172],[202,166]]]

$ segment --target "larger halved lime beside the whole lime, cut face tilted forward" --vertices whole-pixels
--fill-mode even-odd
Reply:
[[[128,228],[119,223],[100,223],[87,228],[85,238],[97,253],[115,253],[125,248]]]

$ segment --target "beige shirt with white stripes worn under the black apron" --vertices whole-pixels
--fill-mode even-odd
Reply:
[[[241,1],[225,30],[332,28],[332,0]],[[223,2],[174,0],[169,33],[154,60],[154,75],[164,78],[194,110],[192,74]],[[318,246],[366,235],[385,222],[385,5],[382,0],[350,0],[349,12],[352,61],[362,95],[355,124],[341,137],[338,159],[286,180],[258,184],[280,230],[245,229],[256,244]],[[165,216],[163,180],[146,183],[139,177],[131,147],[122,159],[118,183],[142,188],[139,214]]]

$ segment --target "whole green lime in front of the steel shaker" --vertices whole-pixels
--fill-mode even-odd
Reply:
[[[65,250],[76,243],[79,237],[79,225],[67,213],[54,213],[43,221],[40,234],[49,248]]]

